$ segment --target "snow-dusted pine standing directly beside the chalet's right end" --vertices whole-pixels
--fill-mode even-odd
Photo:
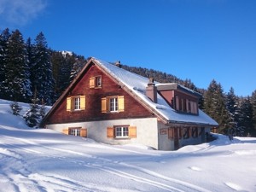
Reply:
[[[221,133],[228,131],[228,113],[224,103],[224,93],[221,84],[213,79],[204,96],[205,112],[218,122]]]

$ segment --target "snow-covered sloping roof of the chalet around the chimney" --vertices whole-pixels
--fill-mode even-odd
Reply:
[[[115,65],[106,61],[101,61],[96,58],[93,58],[93,60],[99,67],[102,67],[102,69],[109,73],[114,79],[119,81],[121,84],[124,84],[125,87],[131,90],[133,94],[137,95],[144,103],[146,103],[148,107],[154,109],[155,112],[159,113],[167,121],[172,123],[218,125],[214,119],[209,117],[200,109],[198,115],[177,113],[177,111],[174,110],[162,96],[160,96],[160,94],[157,94],[157,102],[152,102],[145,94],[146,87],[148,85],[147,78],[144,78],[136,73],[128,72],[125,69],[116,67]],[[154,84],[156,86],[161,85],[158,82],[154,82]],[[185,89],[189,90],[188,88]],[[194,92],[194,90],[189,91]]]

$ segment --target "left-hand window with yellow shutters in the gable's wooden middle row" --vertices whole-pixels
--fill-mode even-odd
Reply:
[[[67,111],[79,111],[85,109],[85,96],[67,97]]]

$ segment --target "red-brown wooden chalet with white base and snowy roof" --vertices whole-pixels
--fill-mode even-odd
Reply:
[[[160,84],[92,58],[41,125],[101,143],[175,150],[204,143],[218,126],[198,108],[200,96],[181,84]]]

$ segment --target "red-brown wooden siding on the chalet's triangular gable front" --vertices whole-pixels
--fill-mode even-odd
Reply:
[[[102,76],[102,88],[90,88],[90,78]],[[80,111],[67,111],[68,96],[85,96],[86,108]],[[55,112],[51,113],[46,124],[58,124],[68,122],[81,122],[102,119],[132,119],[152,117],[152,113],[144,108],[119,84],[116,84],[101,69],[91,65],[84,76],[79,79],[77,84],[70,90],[69,95],[55,107]],[[119,113],[102,113],[102,98],[106,96],[124,96],[123,112]]]

